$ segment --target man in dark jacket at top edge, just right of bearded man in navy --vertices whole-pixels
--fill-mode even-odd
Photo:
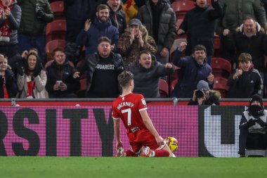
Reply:
[[[117,27],[119,35],[121,35],[126,29],[126,16],[124,11],[122,11],[121,0],[108,0],[107,4],[110,7],[111,23]]]

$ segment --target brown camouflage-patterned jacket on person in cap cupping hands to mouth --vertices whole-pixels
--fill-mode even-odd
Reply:
[[[148,36],[148,31],[143,25],[140,25],[139,28],[143,33],[143,47],[138,42],[138,39],[134,39],[133,43],[130,44],[131,32],[129,27],[119,38],[117,49],[119,53],[122,54],[125,66],[129,65],[129,63],[137,61],[141,51],[147,50],[152,54],[155,54],[157,52],[157,44],[155,40],[152,37]]]

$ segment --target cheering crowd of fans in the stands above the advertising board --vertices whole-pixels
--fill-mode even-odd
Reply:
[[[221,97],[265,98],[266,6],[263,0],[1,0],[0,98],[116,98],[124,70],[133,72],[134,92],[145,98],[209,100],[210,94],[196,95],[200,86],[216,91],[216,104]],[[200,105],[207,103],[214,102]]]

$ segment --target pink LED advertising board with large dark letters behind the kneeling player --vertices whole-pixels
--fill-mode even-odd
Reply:
[[[238,157],[238,124],[245,106],[149,106],[163,137],[178,139],[178,156]],[[129,144],[121,125],[124,148]],[[0,107],[0,155],[112,156],[108,106]]]

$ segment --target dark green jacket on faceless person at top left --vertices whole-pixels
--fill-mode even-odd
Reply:
[[[46,23],[53,21],[54,15],[51,11],[47,0],[18,0],[18,5],[22,9],[22,18],[20,21],[19,34],[30,35],[37,37],[45,34]],[[44,18],[37,18],[36,7],[43,9]]]

